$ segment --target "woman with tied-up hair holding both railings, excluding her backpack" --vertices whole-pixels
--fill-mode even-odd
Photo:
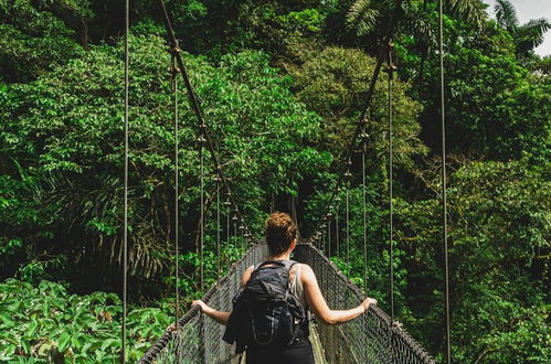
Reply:
[[[267,260],[289,260],[290,254],[297,244],[297,226],[293,218],[280,212],[275,212],[266,220],[266,243],[269,249]],[[248,267],[243,272],[241,278],[241,287],[244,287],[254,266]],[[321,295],[321,291],[316,279],[316,275],[306,264],[296,264],[289,271],[289,289],[299,299],[305,310],[310,309],[319,321],[325,324],[337,324],[350,321],[360,314],[364,313],[370,304],[377,304],[377,300],[367,298],[360,306],[350,310],[331,310]],[[211,319],[226,324],[230,318],[230,312],[218,311],[201,300],[193,301],[192,304],[200,307],[201,311]],[[308,340],[308,334],[301,331],[293,344],[288,345],[284,352],[276,356],[266,354],[255,347],[248,347],[246,362],[251,363],[300,363],[314,364],[314,354],[311,344]]]

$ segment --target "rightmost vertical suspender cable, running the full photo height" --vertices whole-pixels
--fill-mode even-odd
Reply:
[[[444,31],[443,6],[438,1],[438,46],[441,78],[441,124],[442,124],[442,225],[444,237],[444,266],[446,276],[446,363],[452,363],[451,324],[449,324],[449,264],[447,247],[447,201],[446,201],[446,113],[444,103]]]

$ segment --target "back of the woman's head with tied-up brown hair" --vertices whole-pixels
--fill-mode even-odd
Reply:
[[[266,243],[272,255],[285,253],[296,237],[297,225],[288,214],[275,212],[266,218]]]

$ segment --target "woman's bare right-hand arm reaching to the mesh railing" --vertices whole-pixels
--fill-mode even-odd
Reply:
[[[308,265],[300,265],[300,276],[305,288],[306,300],[316,317],[325,324],[337,324],[350,321],[368,311],[370,304],[377,304],[377,300],[367,298],[360,306],[350,310],[331,310],[321,295],[318,280],[314,270]]]

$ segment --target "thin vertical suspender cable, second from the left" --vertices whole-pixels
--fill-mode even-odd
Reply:
[[[176,278],[176,329],[178,330],[178,309],[180,307],[180,290],[178,287],[179,278],[180,278],[180,264],[179,264],[179,240],[178,240],[178,232],[180,231],[179,226],[179,217],[180,217],[180,205],[179,205],[179,135],[178,135],[178,68],[176,66],[174,57],[172,56],[172,82],[173,82],[173,90],[174,90],[174,278]]]

